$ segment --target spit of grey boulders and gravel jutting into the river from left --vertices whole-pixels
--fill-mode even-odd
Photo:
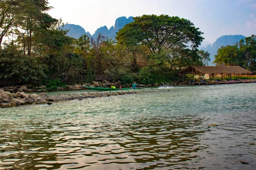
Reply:
[[[48,104],[51,105],[52,102],[58,101],[69,101],[69,100],[82,100],[87,98],[97,98],[97,97],[108,97],[117,96],[125,94],[136,94],[137,91],[104,91],[104,92],[91,92],[83,94],[58,94],[49,96],[46,93],[37,94],[26,94],[24,92],[10,93],[9,91],[3,91],[0,89],[0,107],[1,108],[11,108],[20,105],[29,104]]]

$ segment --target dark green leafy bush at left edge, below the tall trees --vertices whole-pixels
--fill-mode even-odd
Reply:
[[[47,78],[45,70],[38,58],[24,55],[13,44],[0,49],[0,86],[38,85]]]

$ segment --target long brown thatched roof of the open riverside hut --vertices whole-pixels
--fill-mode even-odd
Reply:
[[[191,73],[218,73],[218,74],[252,74],[240,66],[189,66],[181,71],[181,74]]]

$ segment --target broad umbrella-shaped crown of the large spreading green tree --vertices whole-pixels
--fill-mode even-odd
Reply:
[[[116,39],[128,45],[142,43],[151,54],[172,48],[198,48],[203,34],[189,20],[168,15],[143,15],[119,30]]]

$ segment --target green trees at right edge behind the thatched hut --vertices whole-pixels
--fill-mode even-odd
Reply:
[[[241,39],[236,45],[222,46],[215,55],[217,65],[239,65],[256,71],[256,36]]]

